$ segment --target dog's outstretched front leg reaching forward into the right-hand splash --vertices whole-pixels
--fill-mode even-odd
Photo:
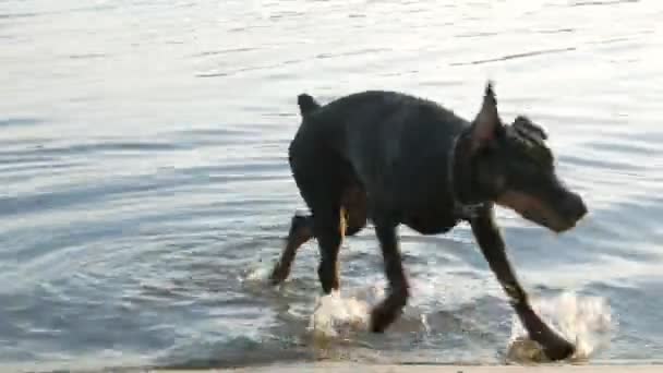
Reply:
[[[506,255],[504,240],[493,218],[493,209],[485,209],[471,221],[471,226],[489,266],[509,297],[530,338],[543,347],[543,351],[551,360],[570,357],[575,351],[574,345],[553,332],[532,310],[527,293],[518,282]]]

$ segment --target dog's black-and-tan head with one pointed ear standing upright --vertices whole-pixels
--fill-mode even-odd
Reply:
[[[491,82],[470,137],[473,180],[498,205],[555,232],[587,214],[582,198],[558,179],[545,131],[523,116],[502,123]]]

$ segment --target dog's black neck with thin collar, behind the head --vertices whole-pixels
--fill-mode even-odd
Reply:
[[[473,184],[471,170],[471,130],[467,129],[454,137],[447,167],[448,191],[458,218],[471,220],[489,201],[480,195]],[[473,188],[474,186],[474,188]]]

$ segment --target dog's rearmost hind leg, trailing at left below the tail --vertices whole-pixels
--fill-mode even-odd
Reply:
[[[313,216],[294,215],[290,222],[290,231],[286,239],[286,248],[279,261],[274,266],[269,279],[272,284],[278,285],[288,278],[292,261],[297,255],[297,250],[313,237]]]

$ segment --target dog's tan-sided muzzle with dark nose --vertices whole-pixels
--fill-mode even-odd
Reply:
[[[576,194],[569,194],[565,201],[555,204],[555,207],[551,207],[531,195],[510,191],[505,192],[495,202],[555,233],[575,228],[587,214],[587,207]]]

